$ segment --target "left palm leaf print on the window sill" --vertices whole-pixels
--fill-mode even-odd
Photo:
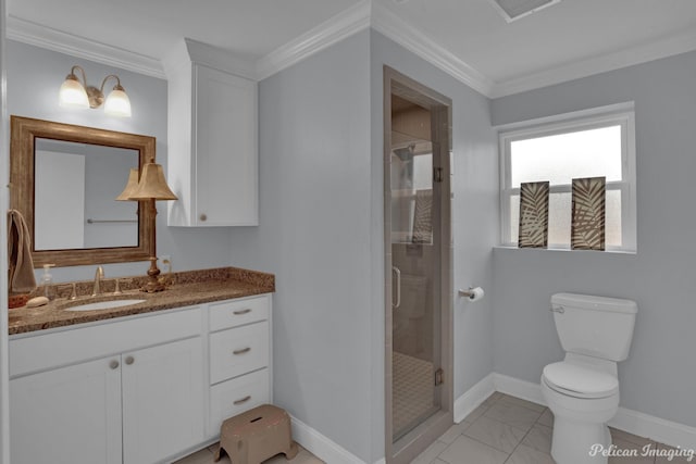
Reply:
[[[549,183],[520,184],[520,231],[518,247],[548,246]]]

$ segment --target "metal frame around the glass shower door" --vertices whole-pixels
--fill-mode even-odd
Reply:
[[[410,463],[453,424],[453,348],[452,348],[452,231],[451,231],[451,99],[417,80],[384,66],[384,243],[385,243],[385,455],[387,464]],[[440,409],[412,431],[394,441],[393,425],[393,272],[391,272],[391,95],[395,88],[408,100],[431,110],[433,164],[439,171],[439,367],[443,369]],[[435,191],[435,189],[434,189]],[[434,287],[435,289],[435,287]]]

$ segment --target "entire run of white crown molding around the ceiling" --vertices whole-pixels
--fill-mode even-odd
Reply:
[[[361,0],[254,62],[243,60],[237,63],[235,61],[234,67],[236,74],[261,80],[368,27],[372,27],[485,97],[494,99],[696,50],[696,30],[686,30],[637,47],[571,62],[509,80],[494,81],[419,32],[418,26],[406,22],[386,5],[373,0]],[[96,42],[13,15],[7,17],[7,37],[135,73],[166,78],[163,63],[158,59]],[[199,42],[191,41],[191,43],[194,48],[198,48],[196,46]],[[217,63],[214,67],[229,67],[220,65],[221,53],[213,53],[213,55],[211,57],[214,60],[207,57],[204,61]]]

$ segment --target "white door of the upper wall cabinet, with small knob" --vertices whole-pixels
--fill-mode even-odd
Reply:
[[[258,225],[257,83],[194,68],[196,224]]]

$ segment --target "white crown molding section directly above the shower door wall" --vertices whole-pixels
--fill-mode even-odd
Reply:
[[[495,83],[380,3],[372,5],[372,28],[472,89],[488,97]]]

